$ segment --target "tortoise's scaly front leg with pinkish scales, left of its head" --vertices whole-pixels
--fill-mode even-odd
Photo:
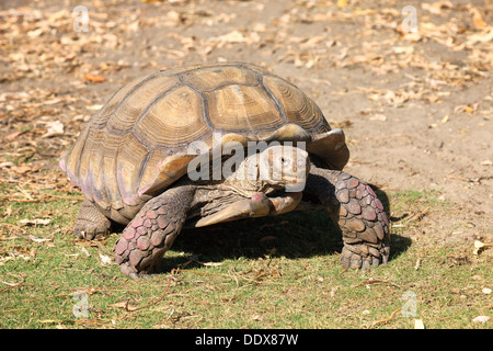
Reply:
[[[115,245],[115,261],[133,279],[147,276],[180,234],[194,191],[173,188],[147,202]]]

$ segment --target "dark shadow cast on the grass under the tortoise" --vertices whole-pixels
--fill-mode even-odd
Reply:
[[[390,218],[388,195],[370,184]],[[411,246],[411,239],[391,234],[389,262]],[[226,259],[257,259],[265,256],[289,259],[339,254],[342,233],[323,211],[290,212],[274,217],[248,218],[203,228],[183,229],[172,251],[183,251],[202,262]],[[160,272],[169,272],[190,260],[190,256],[163,257]]]

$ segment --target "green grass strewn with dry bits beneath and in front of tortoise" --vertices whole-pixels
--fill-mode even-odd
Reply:
[[[57,193],[53,193],[57,194]],[[72,196],[73,194],[61,194]],[[379,193],[381,195],[381,193]],[[344,271],[320,212],[185,230],[162,272],[131,281],[108,263],[118,234],[76,240],[80,202],[12,202],[0,226],[1,328],[491,328],[491,249],[416,236],[437,192],[387,194],[389,264]],[[25,226],[22,219],[49,219]],[[410,230],[412,229],[412,230]],[[404,314],[403,314],[404,312]]]

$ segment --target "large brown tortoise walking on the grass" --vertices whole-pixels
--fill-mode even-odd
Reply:
[[[115,261],[136,279],[154,271],[184,226],[317,207],[341,228],[343,267],[386,263],[383,206],[342,171],[348,158],[343,131],[296,86],[255,65],[221,63],[124,86],[60,166],[85,195],[76,235],[126,225]]]

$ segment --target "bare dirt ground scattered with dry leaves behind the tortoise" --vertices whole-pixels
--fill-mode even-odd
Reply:
[[[81,4],[87,31],[72,13]],[[417,32],[405,31],[408,5]],[[21,194],[68,186],[60,152],[124,83],[244,60],[344,128],[346,171],[452,204],[431,210],[420,235],[492,237],[491,0],[1,1],[0,19],[0,177]]]

